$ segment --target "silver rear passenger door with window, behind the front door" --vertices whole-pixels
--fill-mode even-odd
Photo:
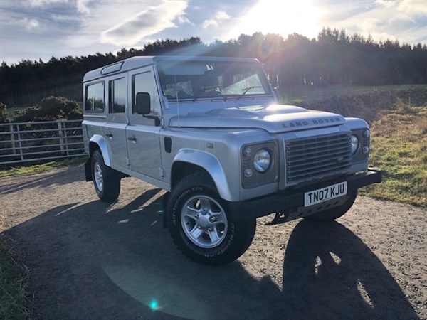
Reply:
[[[107,80],[107,124],[105,141],[109,149],[112,167],[127,169],[126,126],[127,78],[119,75]]]

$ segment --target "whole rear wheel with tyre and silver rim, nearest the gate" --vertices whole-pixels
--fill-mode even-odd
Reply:
[[[92,156],[92,180],[97,196],[102,201],[115,201],[120,193],[120,175],[117,171],[105,166],[99,150]]]

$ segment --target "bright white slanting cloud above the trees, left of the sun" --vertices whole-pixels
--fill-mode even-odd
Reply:
[[[139,14],[103,31],[100,42],[116,46],[133,46],[144,38],[167,28],[176,28],[174,21],[184,21],[184,10],[187,6],[187,1],[162,1],[157,6],[150,6]]]

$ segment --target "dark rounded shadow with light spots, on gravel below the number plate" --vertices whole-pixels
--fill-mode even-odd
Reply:
[[[336,221],[302,220],[292,231],[283,302],[292,319],[419,319],[374,252]]]

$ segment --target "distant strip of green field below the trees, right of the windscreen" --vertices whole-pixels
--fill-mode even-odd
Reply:
[[[341,95],[355,95],[377,91],[398,91],[412,88],[426,88],[427,85],[384,85],[384,86],[330,86],[330,87],[296,87],[287,88],[280,92],[280,101],[283,103],[302,102],[320,98],[329,98]]]

